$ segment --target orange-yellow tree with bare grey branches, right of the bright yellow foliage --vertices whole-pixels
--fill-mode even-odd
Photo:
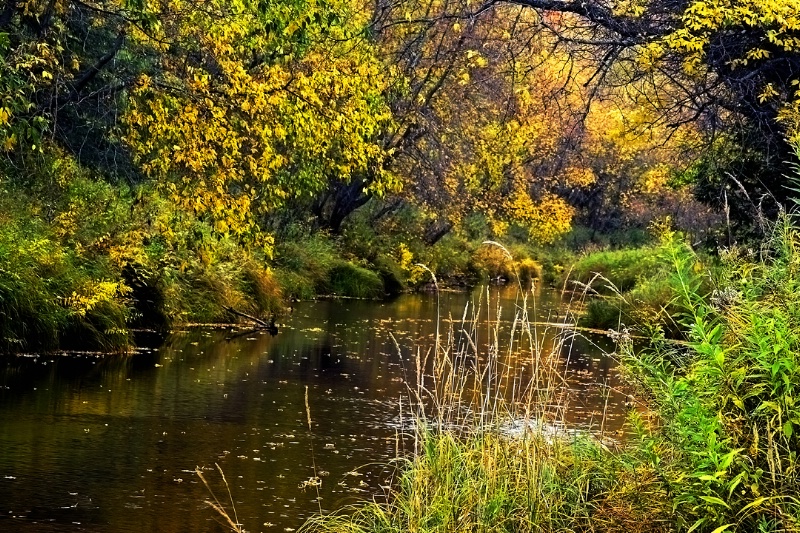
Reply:
[[[576,87],[561,75],[569,59],[548,53],[552,42],[524,10],[496,11],[465,20],[464,6],[447,2],[374,9],[374,39],[393,74],[395,121],[384,142],[403,177],[377,216],[414,206],[429,244],[471,213],[497,231],[512,222],[536,228],[543,241],[569,228],[572,210],[553,193],[564,176],[546,163],[574,117],[567,95]]]

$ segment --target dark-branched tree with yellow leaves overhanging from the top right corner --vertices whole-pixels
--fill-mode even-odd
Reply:
[[[659,112],[658,121],[696,124],[707,146],[723,143],[727,157],[719,162],[729,164],[706,164],[697,173],[718,183],[716,192],[706,186],[710,200],[721,205],[724,195],[739,195],[755,205],[764,195],[786,198],[787,138],[796,142],[800,116],[796,2],[491,0],[477,11],[503,3],[536,12],[565,50],[594,58],[593,83],[649,87],[641,102]],[[704,178],[712,168],[716,176]],[[752,218],[752,209],[740,210]]]

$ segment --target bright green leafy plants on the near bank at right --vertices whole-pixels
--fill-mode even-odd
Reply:
[[[800,234],[783,220],[760,259],[726,251],[714,273],[698,272],[679,241],[668,251],[688,345],[656,335],[623,353],[659,419],[644,442],[673,521],[800,531]]]

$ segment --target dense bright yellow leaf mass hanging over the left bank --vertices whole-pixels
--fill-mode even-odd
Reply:
[[[309,9],[281,35],[260,33],[255,6],[223,0],[171,20],[164,31],[193,39],[209,62],[186,67],[177,58],[167,63],[165,80],[142,76],[132,92],[125,141],[136,161],[218,233],[248,235],[255,215],[313,195],[330,181],[375,173],[372,192],[398,186],[383,168],[387,153],[378,139],[391,113],[383,103],[383,70],[368,43],[312,35],[287,61],[248,68],[251,47],[280,47],[311,28],[306,22],[315,8]]]

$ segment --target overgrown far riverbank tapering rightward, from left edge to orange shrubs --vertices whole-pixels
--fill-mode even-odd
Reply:
[[[440,288],[556,283],[573,257],[524,235],[510,239],[512,259],[481,232],[453,231],[429,246],[358,220],[338,236],[292,226],[277,240],[243,241],[155,190],[64,170],[48,187],[9,183],[0,199],[2,352],[124,351],[132,329],[244,320],[238,313],[280,321],[293,301],[425,290],[431,273]]]

